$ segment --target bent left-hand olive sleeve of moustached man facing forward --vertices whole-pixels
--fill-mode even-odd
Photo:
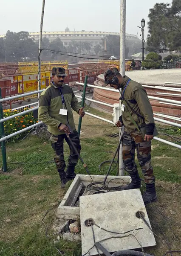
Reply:
[[[52,118],[48,114],[48,109],[50,106],[51,98],[48,95],[48,93],[45,93],[43,95],[40,95],[40,103],[38,108],[38,118],[40,121],[44,122],[46,125],[50,125],[52,127],[59,127],[61,125],[61,122]]]

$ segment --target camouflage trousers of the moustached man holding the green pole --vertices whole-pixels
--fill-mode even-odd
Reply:
[[[76,130],[74,130],[73,134],[69,134],[69,137],[71,138],[72,142],[74,143],[75,148],[77,149],[77,151],[80,153],[81,151],[81,145],[80,145],[80,140],[79,140],[79,136]],[[58,136],[55,135],[51,135],[51,146],[55,151],[55,158],[54,161],[56,163],[56,167],[57,167],[57,171],[58,172],[63,172],[65,170],[65,160],[64,160],[64,149],[63,149],[63,143],[64,143],[64,139],[67,142],[67,144],[69,145],[70,148],[70,155],[68,158],[68,167],[67,167],[67,174],[71,175],[74,170],[75,170],[75,166],[79,160],[79,157],[77,156],[77,154],[74,152],[67,136],[65,134],[60,134]]]

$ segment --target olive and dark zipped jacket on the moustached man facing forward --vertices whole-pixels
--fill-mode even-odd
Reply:
[[[61,123],[68,123],[74,131],[76,128],[72,108],[76,113],[79,113],[79,109],[81,108],[71,87],[67,84],[62,84],[61,91],[65,100],[65,109],[68,110],[67,116],[59,114],[60,109],[63,108],[63,104],[57,86],[51,83],[40,95],[38,118],[48,125],[48,131],[54,135],[65,134],[64,131],[59,130]]]

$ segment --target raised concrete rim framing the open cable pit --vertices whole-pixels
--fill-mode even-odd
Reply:
[[[91,175],[91,177],[95,182],[104,181],[105,178],[104,175]],[[57,218],[71,220],[77,220],[80,218],[80,208],[75,207],[74,204],[79,197],[82,187],[85,187],[92,182],[91,177],[89,175],[76,175],[62,202],[59,204],[57,209]],[[131,181],[130,176],[108,176],[107,182],[112,179],[115,180],[114,183],[111,183],[111,186],[119,186]]]

